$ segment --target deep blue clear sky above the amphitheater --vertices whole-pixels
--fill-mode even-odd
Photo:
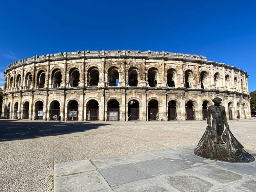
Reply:
[[[256,1],[2,1],[0,85],[10,63],[77,50],[197,54],[248,72],[256,90]]]

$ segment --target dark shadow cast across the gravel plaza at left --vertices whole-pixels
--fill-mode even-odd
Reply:
[[[20,121],[0,120],[0,141],[35,139],[48,136],[61,136],[96,132],[102,126],[111,125],[95,122],[70,121]],[[80,135],[81,136],[81,135]]]

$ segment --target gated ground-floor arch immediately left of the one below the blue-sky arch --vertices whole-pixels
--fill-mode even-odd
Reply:
[[[99,121],[99,103],[94,99],[87,102],[86,121]]]

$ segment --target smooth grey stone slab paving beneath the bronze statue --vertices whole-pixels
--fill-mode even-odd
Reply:
[[[256,164],[194,155],[195,145],[75,161],[54,166],[54,191],[256,191]],[[248,152],[255,154],[255,151]]]

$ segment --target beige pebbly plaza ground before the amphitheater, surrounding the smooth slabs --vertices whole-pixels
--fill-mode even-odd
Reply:
[[[244,148],[256,150],[256,119],[228,122],[231,132]],[[0,120],[0,124],[0,139],[6,140],[0,142],[1,192],[51,191],[50,175],[53,175],[54,164],[197,144],[206,128],[205,121],[66,123],[71,125],[70,128],[64,125],[65,122],[62,122],[65,128],[60,124],[57,128],[50,127],[49,122],[44,121]],[[77,126],[83,127],[79,132],[95,132],[95,135],[76,137],[71,133]],[[115,130],[96,134],[101,127]],[[58,129],[57,132],[65,129],[65,134],[70,137],[55,135],[54,138],[53,133],[48,133],[52,129]],[[44,138],[40,138],[42,133]],[[32,138],[36,134],[39,136]]]

